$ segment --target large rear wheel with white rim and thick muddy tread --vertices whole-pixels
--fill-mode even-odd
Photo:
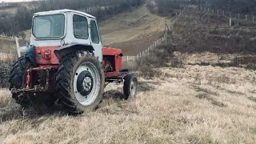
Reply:
[[[89,51],[62,58],[56,74],[56,92],[63,108],[70,114],[96,110],[104,93],[101,63]]]

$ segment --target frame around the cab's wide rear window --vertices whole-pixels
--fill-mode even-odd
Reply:
[[[35,35],[34,35],[34,18],[36,17],[42,17],[42,16],[49,16],[49,15],[64,15],[64,29],[63,29],[63,35],[60,36],[60,37],[48,37],[48,38],[37,38]],[[32,21],[32,35],[34,36],[34,38],[36,39],[40,39],[40,40],[48,40],[48,39],[62,39],[62,38],[65,38],[66,37],[66,14],[46,14],[46,15],[34,15],[33,17],[33,21]]]

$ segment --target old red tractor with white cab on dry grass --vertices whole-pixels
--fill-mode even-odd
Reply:
[[[26,109],[56,102],[70,114],[96,110],[110,82],[123,82],[124,98],[138,79],[122,68],[122,50],[102,47],[97,19],[76,10],[33,15],[30,44],[10,71],[12,97]]]

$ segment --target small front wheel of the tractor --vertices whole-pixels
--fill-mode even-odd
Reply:
[[[134,77],[134,74],[127,74],[124,80],[123,94],[125,99],[135,97],[138,89],[138,79]]]

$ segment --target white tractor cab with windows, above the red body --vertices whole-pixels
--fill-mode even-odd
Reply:
[[[94,48],[102,62],[102,41],[94,16],[76,10],[52,10],[34,14],[30,45],[66,46],[83,44]]]

